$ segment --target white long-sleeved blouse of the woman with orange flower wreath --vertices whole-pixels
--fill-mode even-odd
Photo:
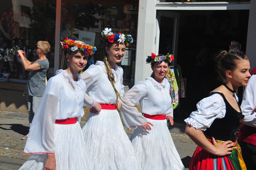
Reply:
[[[49,79],[36,110],[25,153],[54,153],[55,120],[81,118],[84,115],[86,85],[81,76],[78,74],[75,82],[65,70],[57,70],[56,74]]]

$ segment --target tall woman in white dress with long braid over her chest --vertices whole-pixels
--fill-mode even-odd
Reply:
[[[107,57],[91,65],[81,75],[88,95],[96,101],[95,106],[98,103],[101,106],[101,110],[97,110],[98,107],[90,110],[83,127],[85,144],[94,170],[140,169],[116,108],[122,106],[117,102],[119,94],[124,94],[123,69],[116,63],[122,61],[125,43],[132,43],[132,37],[114,34],[108,28],[102,31],[102,36]]]

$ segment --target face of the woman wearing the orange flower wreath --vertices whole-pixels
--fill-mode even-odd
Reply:
[[[78,51],[73,56],[72,55],[70,56],[69,54],[67,54],[67,61],[69,62],[68,66],[70,70],[77,72],[83,70],[83,68],[87,64],[88,54]]]

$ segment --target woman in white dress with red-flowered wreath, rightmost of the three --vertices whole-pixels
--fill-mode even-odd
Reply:
[[[138,82],[123,98],[122,117],[127,128],[137,126],[131,142],[142,169],[185,169],[177,152],[166,119],[173,125],[170,84],[165,78],[173,55],[148,56],[153,74]],[[135,104],[140,103],[141,112]],[[127,105],[129,104],[129,106]]]

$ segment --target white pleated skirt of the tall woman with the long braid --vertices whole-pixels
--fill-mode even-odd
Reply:
[[[90,113],[83,134],[94,170],[141,169],[117,110]]]

